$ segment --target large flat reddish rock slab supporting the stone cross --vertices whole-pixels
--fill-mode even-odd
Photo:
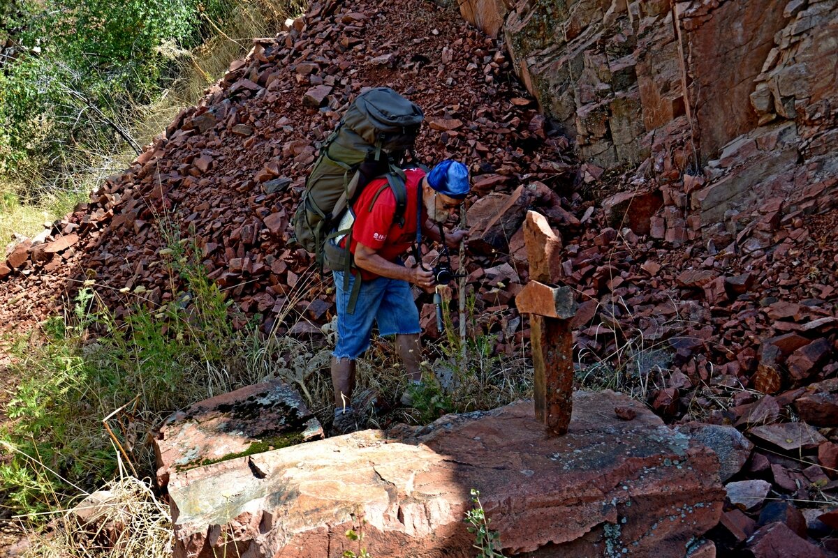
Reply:
[[[519,402],[173,474],[174,555],[337,557],[359,551],[345,533],[362,529],[373,556],[464,558],[478,489],[507,555],[683,556],[719,521],[718,471],[643,405],[577,392],[564,436]]]

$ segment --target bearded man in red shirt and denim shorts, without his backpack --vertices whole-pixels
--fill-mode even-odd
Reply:
[[[385,179],[376,179],[365,187],[354,204],[355,221],[349,251],[354,254],[357,273],[344,285],[344,272],[334,272],[335,301],[338,308],[338,342],[332,353],[334,387],[334,423],[337,433],[356,428],[351,407],[355,384],[355,360],[370,346],[373,322],[379,334],[396,335],[396,351],[405,366],[408,381],[420,383],[422,345],[419,340],[419,312],[410,284],[432,289],[433,274],[421,266],[407,268],[401,262],[416,240],[417,219],[422,237],[440,241],[434,223],[453,217],[468,194],[468,169],[458,161],[442,161],[427,176],[421,169],[406,174],[406,209],[404,226],[393,222],[396,197],[390,188],[380,190]],[[422,208],[417,190],[422,192]],[[380,190],[380,193],[379,193]],[[377,197],[376,197],[377,194]],[[418,213],[421,212],[421,215]],[[455,248],[465,231],[446,235],[449,248]],[[342,242],[346,242],[345,239]],[[348,312],[354,281],[361,281],[354,310]],[[345,288],[344,288],[345,287]]]

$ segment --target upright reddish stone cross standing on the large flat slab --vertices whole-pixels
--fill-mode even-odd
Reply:
[[[518,310],[530,315],[535,368],[535,418],[551,433],[565,434],[571,422],[573,339],[570,321],[577,312],[570,287],[553,286],[561,278],[561,238],[547,219],[527,212],[524,223],[530,281],[515,297]]]

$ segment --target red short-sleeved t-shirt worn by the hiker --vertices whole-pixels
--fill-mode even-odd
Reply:
[[[416,240],[416,191],[419,188],[425,171],[421,169],[408,169],[406,175],[407,203],[405,207],[405,226],[399,227],[394,223],[396,214],[396,196],[390,187],[386,187],[375,199],[375,194],[382,186],[385,186],[385,178],[376,178],[364,188],[353,209],[355,212],[355,223],[352,228],[352,245],[349,247],[351,253],[355,253],[358,243],[375,249],[376,253],[387,261],[396,261],[400,256],[405,255]],[[372,211],[370,211],[370,203]],[[422,207],[422,222],[427,219],[427,211]],[[344,240],[344,243],[346,241]],[[361,279],[369,280],[378,277],[366,269],[361,269]]]

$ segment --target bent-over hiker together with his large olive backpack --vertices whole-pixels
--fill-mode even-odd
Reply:
[[[396,91],[365,90],[321,146],[294,214],[297,243],[314,253],[321,270],[334,274],[336,433],[357,427],[351,404],[355,360],[370,346],[374,323],[380,335],[396,335],[408,380],[421,381],[419,313],[411,284],[431,289],[436,279],[447,283],[453,276],[447,267],[434,274],[422,266],[422,237],[455,247],[466,234],[445,235],[441,223],[468,194],[468,168],[450,160],[430,172],[404,164],[422,120],[422,109]],[[411,247],[416,267],[408,268],[403,259]],[[411,402],[409,392],[402,402]]]

